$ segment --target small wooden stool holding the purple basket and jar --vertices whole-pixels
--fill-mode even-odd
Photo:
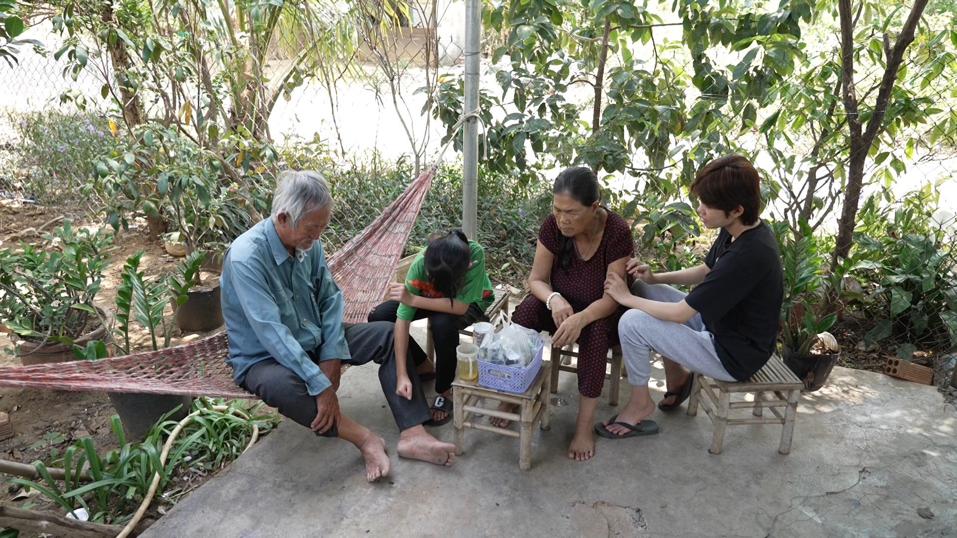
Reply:
[[[551,376],[548,371],[551,363],[542,361],[542,370],[539,370],[535,380],[528,387],[528,390],[517,394],[515,392],[503,392],[496,389],[486,389],[479,386],[479,380],[462,381],[456,377],[452,383],[452,400],[455,403],[453,410],[453,425],[456,429],[456,455],[462,453],[462,446],[465,440],[465,428],[482,430],[499,434],[501,436],[519,438],[519,468],[527,471],[532,466],[532,428],[535,424],[540,424],[543,430],[549,428],[549,410],[551,402],[548,396],[548,387],[551,383]],[[519,409],[516,413],[504,413],[494,409],[486,409],[478,405],[479,399],[496,400],[516,404]],[[480,424],[473,420],[474,415],[498,416],[506,420],[519,422],[519,431],[516,432],[509,428],[498,428],[491,424]]]

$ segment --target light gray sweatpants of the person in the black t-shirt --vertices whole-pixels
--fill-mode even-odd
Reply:
[[[685,296],[684,292],[668,284],[647,284],[643,280],[634,282],[632,294],[661,303],[679,303]],[[704,328],[701,314],[683,324],[676,324],[633,308],[621,316],[618,337],[628,369],[628,382],[634,386],[648,385],[653,349],[688,370],[701,372],[712,379],[735,380],[724,370],[715,351],[714,335]]]

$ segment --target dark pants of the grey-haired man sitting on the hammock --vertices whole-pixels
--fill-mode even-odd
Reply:
[[[384,322],[345,324],[345,341],[352,358],[343,361],[343,364],[360,366],[371,361],[379,365],[379,384],[382,385],[382,392],[386,394],[395,424],[402,431],[429,420],[432,414],[412,362],[406,364],[409,379],[412,380],[412,399],[407,400],[395,393],[397,377],[393,330],[394,325]],[[310,356],[312,355],[310,353]],[[280,365],[276,359],[266,359],[253,365],[246,372],[241,386],[262,398],[266,405],[278,409],[280,415],[292,418],[306,428],[319,413],[316,396],[306,391],[305,382],[293,370]],[[356,421],[362,422],[361,419]],[[323,437],[337,437],[337,433],[333,432],[333,428],[329,428]]]

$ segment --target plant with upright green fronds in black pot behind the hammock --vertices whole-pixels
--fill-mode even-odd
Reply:
[[[116,327],[113,329],[114,345],[123,354],[130,352],[130,325],[143,326],[149,334],[149,344],[158,350],[169,347],[173,323],[167,321],[167,304],[172,307],[172,319],[188,301],[189,288],[196,284],[196,276],[203,264],[203,254],[190,253],[176,265],[175,271],[166,278],[147,279],[140,270],[139,251],[126,259],[122,267],[122,283],[117,288]],[[87,356],[96,355],[96,350],[82,350]],[[78,353],[80,350],[78,350]],[[92,357],[91,357],[92,358]],[[191,396],[175,394],[145,394],[137,392],[110,392],[110,401],[120,415],[127,437],[139,439],[161,416],[182,406],[169,418],[179,420],[186,416]]]

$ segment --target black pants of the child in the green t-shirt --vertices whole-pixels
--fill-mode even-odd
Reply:
[[[387,301],[375,307],[368,315],[369,322],[395,322],[395,312],[399,308],[398,301]],[[458,347],[458,330],[485,319],[485,313],[478,304],[469,304],[469,309],[461,316],[434,312],[419,308],[415,311],[414,320],[429,318],[432,320],[432,339],[435,346],[435,392],[452,389],[452,382],[456,380],[456,347]],[[428,358],[415,339],[409,337],[409,355],[412,360],[407,363],[418,366]]]

